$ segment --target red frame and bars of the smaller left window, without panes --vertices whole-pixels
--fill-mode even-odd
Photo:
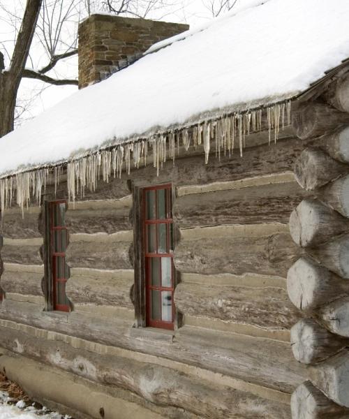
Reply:
[[[68,229],[65,226],[64,220],[61,219],[61,212],[58,213],[59,221],[58,225],[54,225],[54,209],[61,204],[65,204],[66,208],[68,206],[66,200],[57,200],[49,203],[49,214],[50,214],[50,242],[51,242],[51,274],[52,274],[52,307],[57,311],[70,311],[70,306],[66,298],[66,281],[68,280],[68,267],[66,267],[66,252],[65,251],[55,251],[54,246],[54,233],[57,231],[66,230],[66,244],[68,244],[69,236]],[[61,235],[57,235],[57,243],[59,249],[61,248]],[[57,263],[61,263],[61,272],[64,272],[64,278],[58,277],[58,272],[56,272]],[[66,301],[66,304],[59,304],[59,295],[57,294],[58,284],[64,284],[64,295],[60,295],[61,299],[63,298]]]

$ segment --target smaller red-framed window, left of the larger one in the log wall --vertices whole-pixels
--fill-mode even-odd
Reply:
[[[48,225],[50,251],[50,298],[52,309],[70,311],[69,300],[66,297],[66,281],[69,277],[69,267],[66,264],[66,247],[68,245],[68,230],[66,228],[67,203],[65,200],[48,203]]]

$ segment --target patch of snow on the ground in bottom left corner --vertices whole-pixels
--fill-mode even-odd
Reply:
[[[0,391],[0,419],[68,419],[68,416],[48,412],[45,408],[38,410],[34,406],[27,406],[22,400],[16,404],[9,402],[10,397],[7,393]]]

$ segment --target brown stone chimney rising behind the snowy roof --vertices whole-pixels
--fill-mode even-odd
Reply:
[[[79,27],[79,88],[109,77],[151,45],[189,29],[187,24],[91,15]]]

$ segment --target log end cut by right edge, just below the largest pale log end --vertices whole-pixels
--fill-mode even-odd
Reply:
[[[321,307],[318,316],[328,330],[336,335],[349,337],[349,297]]]

